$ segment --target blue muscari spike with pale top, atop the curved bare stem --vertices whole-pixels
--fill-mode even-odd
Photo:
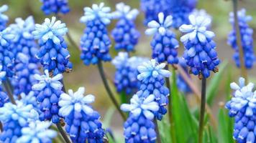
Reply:
[[[84,8],[84,16],[80,19],[81,23],[86,24],[81,37],[81,59],[86,65],[97,64],[99,60],[111,60],[111,41],[106,29],[111,19],[110,11],[110,7],[104,6],[104,3]]]

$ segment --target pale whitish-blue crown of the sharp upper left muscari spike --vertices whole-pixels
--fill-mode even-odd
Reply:
[[[43,42],[51,39],[55,44],[60,44],[59,36],[63,36],[67,32],[66,25],[60,20],[56,21],[56,17],[52,16],[52,20],[47,18],[43,24],[35,24],[35,31],[32,34],[35,39],[42,39]]]

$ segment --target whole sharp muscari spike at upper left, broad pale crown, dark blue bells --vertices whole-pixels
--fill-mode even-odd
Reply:
[[[72,64],[69,61],[70,54],[68,46],[63,36],[68,32],[68,28],[60,20],[45,19],[43,24],[36,24],[35,31],[32,32],[35,39],[39,39],[40,51],[37,59],[44,69],[53,72],[54,75],[70,71]]]

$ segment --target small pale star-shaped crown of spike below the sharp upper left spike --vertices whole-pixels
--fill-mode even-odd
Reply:
[[[55,77],[50,77],[49,71],[45,70],[45,75],[35,74],[35,79],[39,81],[38,84],[34,84],[32,90],[41,91],[47,85],[52,87],[53,89],[60,90],[63,87],[60,80],[63,79],[63,74],[57,74]]]

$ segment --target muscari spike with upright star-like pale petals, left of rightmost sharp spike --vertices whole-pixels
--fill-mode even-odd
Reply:
[[[151,41],[152,58],[158,62],[168,61],[168,64],[178,64],[178,41],[175,34],[170,31],[173,24],[173,16],[165,16],[163,13],[158,14],[158,21],[150,21],[145,31],[147,35],[154,35]]]

